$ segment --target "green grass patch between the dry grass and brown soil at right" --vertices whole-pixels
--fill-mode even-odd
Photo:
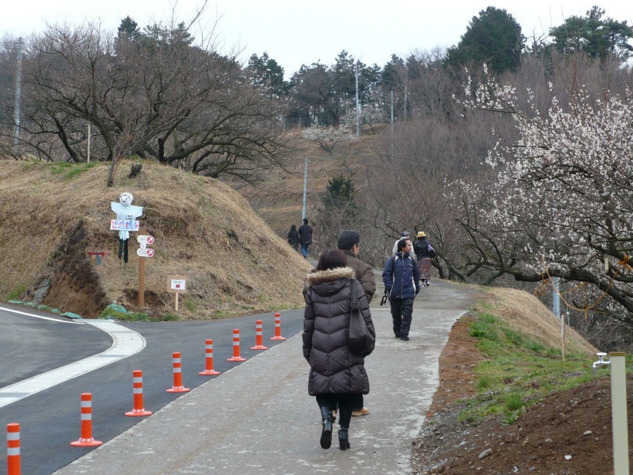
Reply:
[[[584,354],[550,348],[511,328],[487,311],[469,324],[469,334],[487,359],[474,369],[478,394],[467,399],[460,421],[478,424],[500,417],[513,423],[546,396],[591,379],[592,361]]]

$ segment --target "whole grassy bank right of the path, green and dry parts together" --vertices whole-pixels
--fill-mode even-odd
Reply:
[[[562,359],[560,321],[540,300],[515,289],[487,289],[491,300],[474,307],[469,333],[485,360],[474,369],[477,395],[467,399],[460,418],[481,423],[502,417],[512,423],[546,396],[590,379],[597,349],[565,327]],[[633,371],[633,358],[627,358]]]

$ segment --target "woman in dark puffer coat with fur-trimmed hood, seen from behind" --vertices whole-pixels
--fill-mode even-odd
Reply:
[[[356,292],[361,314],[372,335],[376,335],[367,297],[353,269],[346,267],[340,250],[321,254],[317,272],[308,274],[305,296],[303,355],[310,364],[308,393],[315,396],[321,409],[323,429],[321,447],[332,442],[332,410],[339,407],[339,444],[349,445],[352,410],[362,406],[362,395],[369,393],[364,356],[348,346],[350,292]]]

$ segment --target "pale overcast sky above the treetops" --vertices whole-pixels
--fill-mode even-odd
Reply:
[[[203,25],[213,25],[226,49],[238,45],[242,58],[267,52],[289,78],[302,64],[332,64],[342,49],[363,63],[384,66],[392,54],[408,56],[415,49],[456,45],[473,16],[489,5],[503,8],[521,25],[525,36],[548,32],[572,15],[584,16],[594,4],[606,16],[633,24],[628,0],[216,0],[209,1]],[[45,22],[102,21],[116,30],[125,16],[142,28],[168,21],[174,10],[188,21],[197,0],[12,0],[3,2],[0,34],[27,36],[41,32]],[[193,31],[200,38],[201,35]]]

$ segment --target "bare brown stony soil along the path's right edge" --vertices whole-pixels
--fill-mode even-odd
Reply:
[[[612,474],[608,376],[546,398],[511,426],[498,419],[476,427],[457,421],[464,404],[459,399],[476,394],[473,368],[483,357],[467,331],[471,320],[465,316],[454,324],[440,357],[440,385],[414,443],[413,473]],[[631,377],[627,393],[633,394]],[[629,397],[629,434],[632,414]],[[482,456],[487,450],[489,454]]]

